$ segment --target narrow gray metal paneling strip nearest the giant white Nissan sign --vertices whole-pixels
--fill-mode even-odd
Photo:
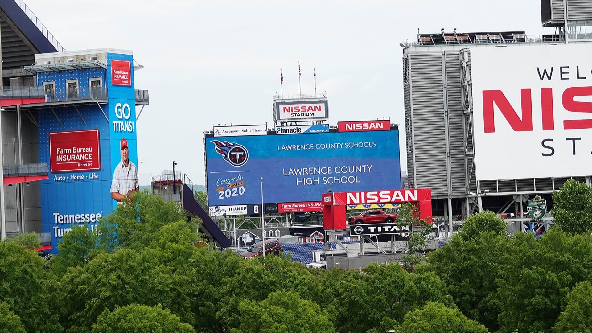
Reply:
[[[446,92],[450,140],[452,194],[465,194],[465,149],[462,134],[461,64],[459,52],[446,51]]]

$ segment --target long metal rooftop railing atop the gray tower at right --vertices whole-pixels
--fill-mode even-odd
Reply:
[[[441,34],[433,34],[432,36],[422,36],[413,39],[407,39],[403,44],[405,47],[409,46],[426,46],[426,45],[457,45],[457,44],[492,44],[492,43],[552,43],[557,41],[564,41],[563,35],[559,34],[545,34],[545,35],[525,35],[514,34],[513,36],[503,36],[501,34],[477,34],[475,36],[457,35],[457,36],[442,36]]]

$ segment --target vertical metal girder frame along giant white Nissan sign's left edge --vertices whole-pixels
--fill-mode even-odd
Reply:
[[[475,141],[473,135],[473,98],[472,98],[472,80],[471,60],[469,60],[469,49],[462,49],[460,52],[461,63],[461,98],[462,98],[462,135],[463,148],[465,151],[465,210],[471,214],[475,211],[475,207],[479,205],[479,201],[473,202],[472,207],[469,202],[469,192],[471,192],[471,185],[475,180]],[[469,146],[469,143],[471,145]],[[477,191],[479,191],[479,184],[477,184]]]

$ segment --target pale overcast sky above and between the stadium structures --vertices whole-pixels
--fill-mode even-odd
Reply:
[[[417,28],[543,33],[539,0],[25,1],[66,50],[133,50],[145,66],[136,72],[136,88],[150,91],[137,124],[142,185],[173,160],[204,184],[202,130],[273,127],[279,69],[284,94],[298,94],[299,60],[303,94],[314,92],[317,68],[330,124],[383,117],[403,124],[399,43],[416,38]],[[404,133],[401,125],[400,142]]]

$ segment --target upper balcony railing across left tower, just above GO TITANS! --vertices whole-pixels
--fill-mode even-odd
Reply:
[[[136,102],[149,103],[147,90],[136,89]],[[78,89],[53,89],[46,91],[44,87],[4,87],[0,98],[45,98],[47,102],[107,100],[106,87],[79,87]]]

